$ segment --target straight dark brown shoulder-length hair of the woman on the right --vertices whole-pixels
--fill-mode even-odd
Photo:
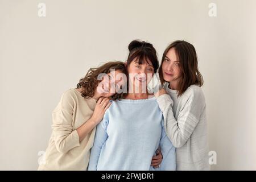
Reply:
[[[191,85],[202,86],[204,84],[204,79],[198,69],[198,61],[196,55],[195,47],[184,40],[176,40],[171,43],[163,53],[162,63],[159,68],[159,77],[161,84],[163,85],[165,80],[163,78],[163,61],[168,53],[168,51],[174,48],[177,55],[177,59],[180,61],[180,72],[181,79],[178,83],[178,96],[181,96]]]

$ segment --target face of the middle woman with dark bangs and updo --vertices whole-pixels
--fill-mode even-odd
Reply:
[[[144,61],[143,64],[139,64],[137,59],[131,61],[127,67],[129,73],[129,80],[133,81],[133,86],[141,88],[147,86],[152,76],[154,75],[154,67],[150,60]]]

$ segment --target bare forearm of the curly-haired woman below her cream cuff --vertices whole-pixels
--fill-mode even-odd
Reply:
[[[79,135],[79,142],[81,142],[89,133],[97,126],[97,122],[94,119],[90,118],[83,125],[81,125],[78,129],[76,129]]]

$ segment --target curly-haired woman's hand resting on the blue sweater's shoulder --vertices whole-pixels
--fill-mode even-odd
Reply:
[[[101,122],[105,111],[109,108],[110,105],[111,102],[108,97],[99,98],[91,118],[96,123],[96,125]]]

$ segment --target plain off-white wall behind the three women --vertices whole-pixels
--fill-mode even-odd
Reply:
[[[154,44],[159,60],[184,39],[204,76],[212,169],[255,170],[255,7],[254,0],[0,0],[0,169],[38,168],[52,110],[90,67],[125,60],[134,39]]]

